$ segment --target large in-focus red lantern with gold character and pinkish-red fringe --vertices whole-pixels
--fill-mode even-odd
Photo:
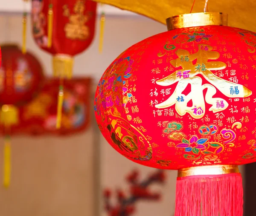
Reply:
[[[105,71],[99,128],[130,160],[178,170],[175,216],[242,216],[238,165],[256,161],[256,34],[222,13],[167,24]]]

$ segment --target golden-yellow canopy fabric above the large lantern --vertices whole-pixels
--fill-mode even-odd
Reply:
[[[193,0],[94,0],[144,15],[165,24],[166,18],[190,12]],[[205,0],[196,0],[193,12],[204,11]],[[209,0],[209,12],[229,15],[229,26],[256,32],[256,0]]]

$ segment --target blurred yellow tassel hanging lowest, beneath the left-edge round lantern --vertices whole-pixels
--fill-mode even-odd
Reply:
[[[3,150],[3,186],[9,187],[11,181],[11,143],[6,136]]]

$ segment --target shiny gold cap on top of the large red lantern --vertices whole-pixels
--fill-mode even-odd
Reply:
[[[196,26],[227,26],[227,14],[221,12],[201,12],[181,14],[166,19],[168,31]]]

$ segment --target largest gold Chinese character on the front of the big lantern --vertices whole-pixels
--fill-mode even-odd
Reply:
[[[227,101],[222,98],[213,98],[216,94],[216,88],[221,91],[222,94],[229,98],[244,98],[252,94],[252,92],[247,89],[245,86],[240,84],[235,84],[230,81],[226,81],[218,76],[214,75],[211,70],[221,70],[226,68],[226,64],[220,61],[209,61],[216,60],[219,58],[219,53],[212,51],[212,46],[204,44],[208,47],[208,50],[200,49],[195,54],[189,54],[188,51],[183,49],[178,49],[175,53],[178,56],[177,59],[171,60],[170,63],[174,67],[182,67],[179,72],[189,72],[189,79],[177,76],[177,73],[172,73],[171,75],[156,81],[158,85],[169,86],[178,82],[175,91],[173,94],[164,102],[155,105],[156,108],[167,108],[175,104],[175,109],[179,115],[185,115],[189,113],[193,118],[202,118],[205,114],[205,101],[207,104],[211,104],[212,107],[209,108],[209,111],[220,112],[228,107]],[[189,61],[181,61],[181,56],[188,56]],[[228,56],[228,55],[227,55]],[[227,57],[229,58],[229,57]],[[197,60],[195,64],[192,61]],[[199,68],[200,66],[200,68]],[[203,69],[202,69],[202,66]],[[202,78],[196,75],[201,74],[210,84],[202,84]],[[187,95],[182,94],[186,87],[191,84],[191,92]],[[216,87],[216,88],[215,88]],[[207,89],[204,101],[203,90]],[[184,103],[177,103],[177,96],[183,96]],[[192,101],[192,108],[187,107],[184,104],[187,104],[189,101]],[[224,106],[216,107],[217,101],[223,101]]]

